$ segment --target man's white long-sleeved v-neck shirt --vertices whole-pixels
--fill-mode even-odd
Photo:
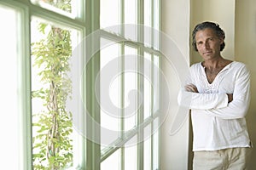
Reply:
[[[191,109],[193,150],[221,150],[250,147],[245,116],[250,103],[250,73],[246,65],[233,61],[207,81],[201,63],[191,65],[185,84],[192,83],[199,93],[178,94],[179,105]],[[227,94],[233,94],[228,103]]]

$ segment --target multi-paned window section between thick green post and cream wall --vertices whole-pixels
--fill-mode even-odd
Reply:
[[[159,1],[102,0],[100,14],[101,169],[159,169]]]

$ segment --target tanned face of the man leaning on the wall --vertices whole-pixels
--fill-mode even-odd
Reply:
[[[220,44],[223,43],[223,38],[217,37],[211,28],[197,31],[195,42],[196,48],[204,60],[220,57]]]

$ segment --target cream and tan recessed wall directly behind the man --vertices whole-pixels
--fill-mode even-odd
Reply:
[[[254,142],[256,141],[256,2],[254,0],[191,0],[191,30],[201,21],[216,21],[226,34],[226,47],[222,55],[226,59],[244,62],[251,71],[251,105],[247,114],[247,125]],[[190,49],[191,64],[201,61],[201,56]],[[256,160],[253,150],[252,160]],[[191,161],[191,160],[189,160]],[[251,161],[249,169],[255,169],[256,161]]]

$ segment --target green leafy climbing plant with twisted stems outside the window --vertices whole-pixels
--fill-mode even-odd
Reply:
[[[46,34],[48,24],[38,30]],[[72,54],[70,31],[50,26],[47,38],[32,43],[33,67],[38,68],[42,88],[32,92],[32,98],[43,99],[44,111],[33,113],[32,124],[37,135],[32,139],[34,169],[61,169],[72,166],[72,113],[67,111],[67,97],[72,93],[69,59]]]

